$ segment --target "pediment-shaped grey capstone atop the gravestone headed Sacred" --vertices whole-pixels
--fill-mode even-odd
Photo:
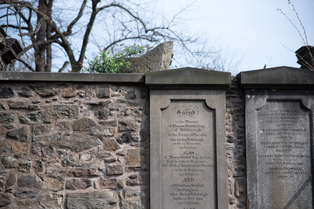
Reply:
[[[231,73],[191,67],[145,73],[151,89],[224,89],[230,83]]]

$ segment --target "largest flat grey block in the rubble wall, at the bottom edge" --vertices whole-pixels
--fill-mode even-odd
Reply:
[[[68,209],[115,209],[118,196],[112,191],[92,191],[88,193],[68,193]]]

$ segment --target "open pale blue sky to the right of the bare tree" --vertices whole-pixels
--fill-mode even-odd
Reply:
[[[159,0],[159,8],[165,15],[173,15],[192,1]],[[309,45],[314,45],[314,0],[292,0],[303,26]],[[181,5],[181,6],[180,6]],[[281,9],[305,38],[293,8],[288,0],[196,0],[187,17],[200,18],[187,21],[189,31],[205,29],[209,40],[217,46],[236,52],[240,71],[278,66],[299,68],[296,51],[303,46],[298,31],[277,9]],[[286,46],[287,48],[285,48]]]

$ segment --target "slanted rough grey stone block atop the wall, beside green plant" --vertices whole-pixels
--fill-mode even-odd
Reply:
[[[154,47],[140,57],[126,58],[129,68],[121,73],[145,73],[150,71],[168,70],[173,57],[173,41],[166,41]]]

